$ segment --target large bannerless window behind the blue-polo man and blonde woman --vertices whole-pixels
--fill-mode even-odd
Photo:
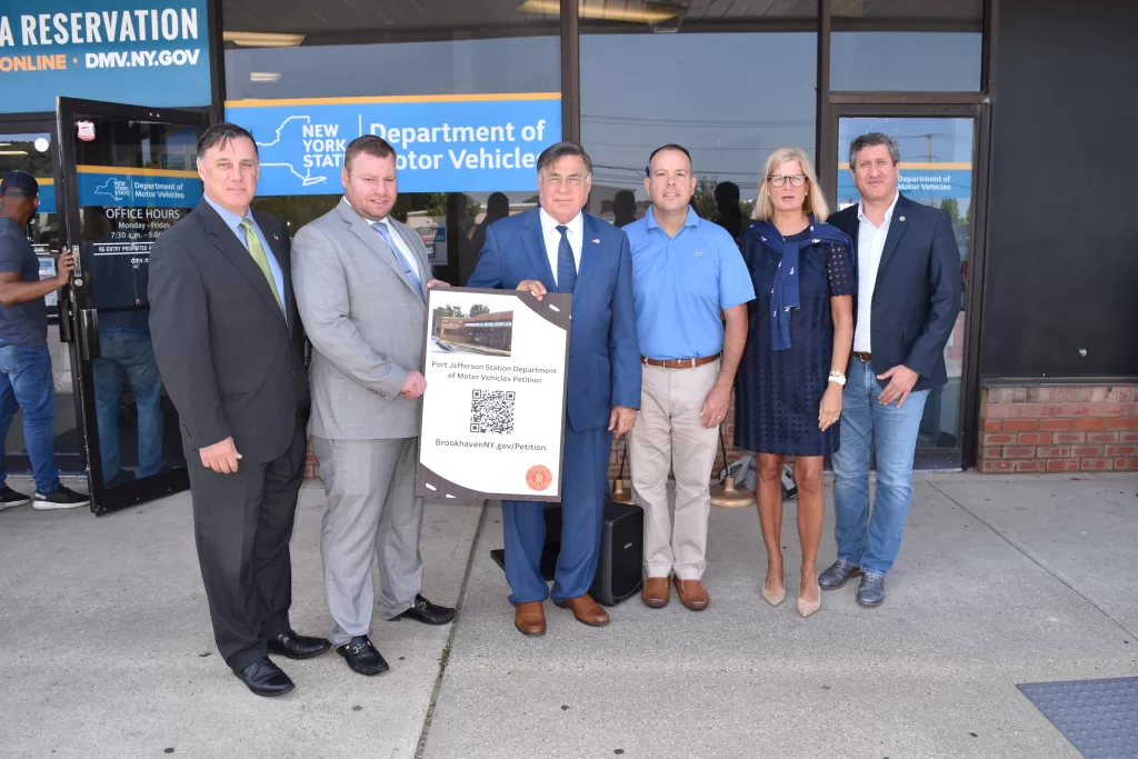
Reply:
[[[786,5],[695,0],[686,9],[648,3],[617,13],[583,0],[580,129],[595,171],[592,213],[617,225],[643,216],[649,155],[676,142],[692,154],[700,215],[737,234],[770,151],[797,146],[814,157],[817,3],[793,3],[795,15],[777,10]]]

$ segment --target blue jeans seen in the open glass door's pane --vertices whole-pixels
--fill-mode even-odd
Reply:
[[[162,469],[162,377],[154,360],[150,336],[143,332],[100,332],[94,372],[94,410],[102,453],[102,481],[118,473],[118,399],[123,379],[131,383],[139,418],[138,477],[151,477]]]

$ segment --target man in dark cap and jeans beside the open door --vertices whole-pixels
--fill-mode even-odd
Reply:
[[[6,484],[0,455],[0,510],[33,500],[40,510],[90,503],[60,484],[56,468],[56,385],[43,296],[67,284],[75,257],[64,253],[56,275],[40,280],[40,259],[25,233],[39,205],[40,184],[31,174],[15,171],[0,182],[0,440],[23,409],[24,445],[35,476],[32,498],[17,493]]]

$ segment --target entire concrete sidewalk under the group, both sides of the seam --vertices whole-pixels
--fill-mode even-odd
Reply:
[[[543,638],[514,630],[488,556],[500,511],[429,506],[424,592],[465,587],[456,622],[377,619],[390,673],[284,660],[297,691],[275,700],[217,657],[185,495],[100,519],[9,510],[0,756],[1077,757],[1015,685],[1138,675],[1136,496],[1136,476],[920,476],[885,605],[858,608],[851,584],[806,620],[794,502],[776,609],[754,510],[717,509],[710,609],[633,599],[594,629],[549,604]],[[322,501],[302,492],[292,541],[304,633],[329,628]]]

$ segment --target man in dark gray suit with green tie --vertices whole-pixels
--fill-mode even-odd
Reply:
[[[307,659],[330,647],[288,620],[310,405],[289,238],[249,208],[253,135],[217,124],[197,155],[201,203],[150,254],[150,332],[181,424],[217,650],[250,691],[280,695],[294,684],[269,653]]]

